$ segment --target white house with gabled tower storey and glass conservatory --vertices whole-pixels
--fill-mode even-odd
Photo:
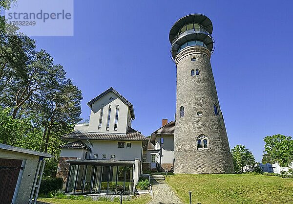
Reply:
[[[131,128],[132,104],[111,87],[87,105],[89,124],[63,136],[57,176],[67,193],[133,194],[148,139]]]

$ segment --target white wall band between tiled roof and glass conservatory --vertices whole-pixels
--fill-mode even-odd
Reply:
[[[98,159],[102,159],[102,155],[107,155],[107,160],[111,159],[111,155],[115,155],[115,160],[134,160],[141,159],[142,141],[124,141],[125,148],[118,148],[118,141],[89,140],[93,144],[91,159],[94,154],[98,154]],[[131,142],[131,147],[126,147],[126,142]],[[84,143],[88,144],[86,141]],[[89,145],[90,146],[90,145]]]

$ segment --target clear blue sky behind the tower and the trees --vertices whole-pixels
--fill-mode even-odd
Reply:
[[[190,13],[213,23],[211,56],[230,148],[243,144],[258,161],[268,135],[293,133],[292,3],[270,0],[75,0],[73,37],[34,37],[86,102],[113,87],[133,105],[145,136],[174,119],[176,67],[169,29]]]

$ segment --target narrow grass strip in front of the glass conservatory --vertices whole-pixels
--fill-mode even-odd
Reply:
[[[150,201],[150,195],[137,196],[131,201],[123,201],[123,204],[146,204]],[[69,199],[57,198],[40,198],[38,201],[46,202],[49,204],[119,204],[119,202],[104,202],[104,201],[77,201]]]

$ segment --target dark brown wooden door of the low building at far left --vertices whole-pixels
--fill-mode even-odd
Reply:
[[[11,204],[22,159],[0,159],[0,204]]]

